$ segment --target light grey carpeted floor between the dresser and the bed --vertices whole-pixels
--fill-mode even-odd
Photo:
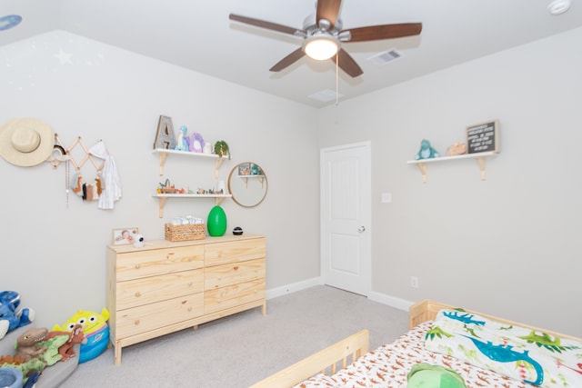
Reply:
[[[316,286],[267,301],[266,316],[256,308],[128,346],[119,366],[107,349],[61,388],[245,388],[358,330],[375,349],[407,324],[405,311]]]

